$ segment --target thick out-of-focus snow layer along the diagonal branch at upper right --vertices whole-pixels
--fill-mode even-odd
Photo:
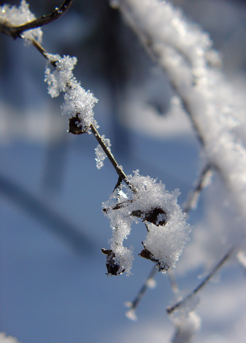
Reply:
[[[235,94],[222,73],[222,61],[212,49],[209,34],[168,1],[120,0],[119,5],[182,99],[202,138],[204,163],[219,170],[239,216],[245,219],[246,148],[235,129],[245,117],[246,101]],[[224,230],[223,238],[229,243],[228,232]],[[235,236],[234,242],[246,249],[243,226]]]

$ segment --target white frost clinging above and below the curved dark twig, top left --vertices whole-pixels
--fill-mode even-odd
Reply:
[[[0,6],[0,23],[8,23],[11,26],[20,26],[22,24],[29,23],[36,19],[35,15],[31,13],[29,4],[26,0],[22,0],[19,7],[3,5]],[[42,42],[42,29],[36,28],[24,31],[21,37],[25,39],[26,43],[37,40],[38,43]]]

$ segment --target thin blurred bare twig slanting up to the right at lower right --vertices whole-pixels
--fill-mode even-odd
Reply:
[[[224,262],[231,256],[233,250],[235,247],[231,248],[225,255],[222,257],[222,259],[215,265],[214,269],[211,271],[211,273],[198,285],[196,288],[193,289],[193,291],[188,294],[183,300],[177,302],[173,306],[167,307],[166,311],[168,314],[171,314],[173,311],[177,310],[181,305],[183,305],[187,300],[189,300],[194,294],[196,294],[203,286],[205,286],[208,281],[215,275],[217,270],[224,264]]]

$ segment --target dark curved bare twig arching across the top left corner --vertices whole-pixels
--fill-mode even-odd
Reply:
[[[21,33],[30,29],[40,28],[41,26],[47,25],[59,18],[66,13],[68,8],[71,6],[72,0],[65,0],[62,5],[58,8],[56,7],[55,11],[52,13],[42,16],[40,18],[34,19],[33,21],[20,25],[20,26],[11,26],[7,22],[0,23],[0,31],[8,36],[11,36],[13,39],[22,38]]]

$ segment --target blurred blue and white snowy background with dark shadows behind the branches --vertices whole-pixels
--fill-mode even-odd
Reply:
[[[244,94],[246,1],[173,2],[210,32],[227,78]],[[60,5],[29,3],[36,17]],[[182,205],[203,166],[200,146],[165,74],[120,13],[106,0],[73,0],[62,19],[43,28],[43,47],[78,58],[74,74],[99,99],[99,132],[110,139],[125,173],[139,169],[169,191],[179,188]],[[107,160],[97,170],[93,135],[66,132],[63,99],[47,94],[45,66],[33,47],[0,35],[0,331],[23,343],[170,342],[174,326],[165,308],[174,296],[166,275],[156,276],[137,322],[124,315],[124,302],[133,300],[153,266],[138,256],[144,226],[134,226],[126,241],[134,246],[132,275],[105,275],[101,248],[109,247],[111,229],[101,203],[117,175]],[[184,292],[223,255],[215,241],[222,244],[220,228],[231,225],[227,197],[215,175],[189,216],[194,229],[177,264]],[[245,343],[245,289],[242,267],[229,263],[221,269],[201,291],[202,327],[194,342]]]

